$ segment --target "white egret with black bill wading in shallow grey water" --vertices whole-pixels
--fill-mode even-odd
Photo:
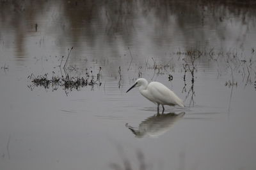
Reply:
[[[146,97],[149,101],[157,104],[157,111],[159,111],[160,104],[163,107],[163,111],[164,105],[179,105],[182,108],[185,107],[183,101],[172,90],[157,81],[152,81],[148,84],[148,81],[145,78],[138,78],[129,90],[134,87],[140,87],[140,94]],[[129,92],[129,90],[127,90],[127,92]]]

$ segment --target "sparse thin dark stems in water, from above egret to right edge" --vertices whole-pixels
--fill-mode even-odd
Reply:
[[[186,87],[187,73],[191,74],[191,83],[195,82],[195,73],[202,68],[202,64],[207,64],[210,67],[216,68],[217,78],[223,75],[230,74],[229,80],[225,82],[227,87],[232,85],[253,85],[256,79],[256,59],[252,48],[252,56],[244,56],[243,52],[237,52],[236,48],[229,50],[215,50],[214,48],[193,48],[182,52],[181,50],[174,52],[172,55],[172,64],[157,62],[152,58],[153,64],[150,66],[147,62],[147,69],[154,70],[154,76],[167,75],[168,81],[173,80],[172,74],[175,71],[183,73],[184,87]],[[173,60],[174,59],[174,60]],[[175,64],[173,64],[175,63]],[[215,65],[215,66],[214,66]],[[141,71],[139,74],[142,74]],[[254,75],[254,76],[253,76]],[[237,78],[242,77],[242,82]]]

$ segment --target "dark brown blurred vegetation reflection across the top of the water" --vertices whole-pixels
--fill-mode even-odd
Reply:
[[[191,30],[190,27],[188,28],[189,24],[201,25],[203,23],[209,27],[215,27],[235,16],[239,20],[241,19],[242,25],[250,27],[255,22],[252,18],[256,15],[255,1],[253,0],[243,2],[238,0],[39,0],[36,2],[17,0],[1,1],[0,13],[1,32],[14,30],[14,42],[17,54],[19,54],[17,56],[25,54],[24,41],[26,41],[26,37],[35,34],[36,31],[46,31],[54,35],[56,42],[60,42],[61,45],[70,42],[71,39],[76,46],[82,46],[83,38],[83,41],[86,39],[86,46],[90,47],[97,44],[97,38],[102,34],[106,36],[104,40],[108,42],[115,42],[116,36],[118,36],[121,39],[121,42],[118,43],[124,43],[126,48],[137,36],[138,29],[148,26],[138,22],[138,19],[143,18],[143,21],[150,24],[153,31],[161,31],[157,38],[156,36],[150,37],[156,41],[157,45],[161,46],[163,43],[172,44],[173,39],[170,38],[172,33],[169,32],[170,29],[163,29],[163,26],[172,25],[173,17],[177,22],[177,31],[180,36],[184,37],[184,43],[189,43],[184,45],[185,48],[188,48],[188,46],[196,46],[198,41],[208,41],[204,31],[200,28]],[[42,23],[44,17],[47,20],[50,19],[49,22]],[[44,27],[45,25],[47,27]],[[217,38],[225,39],[225,32],[228,32],[228,29],[227,27],[216,29]],[[242,29],[243,27],[241,27]],[[244,34],[241,34],[239,38],[244,40]],[[8,39],[4,39],[4,41],[8,42]],[[110,43],[109,48],[116,53],[115,43]],[[101,54],[103,55],[103,53]]]

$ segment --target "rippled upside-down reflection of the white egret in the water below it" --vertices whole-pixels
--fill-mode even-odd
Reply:
[[[162,134],[167,132],[170,127],[172,127],[172,125],[184,115],[185,112],[181,112],[179,114],[157,113],[156,115],[148,117],[146,120],[143,120],[138,128],[131,127],[128,124],[125,124],[125,126],[128,127],[128,129],[130,129],[137,138],[143,138],[144,136],[157,138],[158,136],[161,136]]]

